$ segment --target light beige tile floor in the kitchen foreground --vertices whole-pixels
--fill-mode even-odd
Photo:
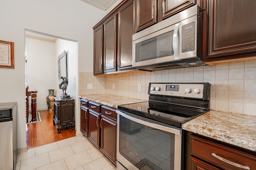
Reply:
[[[84,136],[18,153],[16,170],[116,170]]]

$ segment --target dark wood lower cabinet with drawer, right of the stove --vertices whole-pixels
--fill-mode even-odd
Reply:
[[[189,134],[189,135],[188,135]],[[255,152],[223,143],[201,135],[187,133],[188,170],[256,170]]]

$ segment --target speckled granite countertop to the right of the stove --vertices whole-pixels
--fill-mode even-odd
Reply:
[[[256,151],[256,116],[208,111],[182,125],[182,129]]]

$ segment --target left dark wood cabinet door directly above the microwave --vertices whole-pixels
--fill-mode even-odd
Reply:
[[[136,32],[157,22],[157,0],[135,0]]]

